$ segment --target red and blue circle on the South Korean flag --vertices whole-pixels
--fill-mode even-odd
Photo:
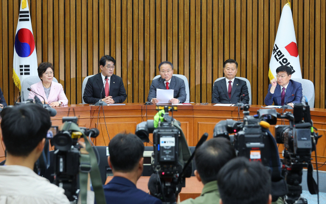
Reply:
[[[34,52],[34,36],[29,29],[19,29],[15,37],[15,50],[19,57],[30,57]]]

